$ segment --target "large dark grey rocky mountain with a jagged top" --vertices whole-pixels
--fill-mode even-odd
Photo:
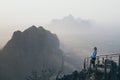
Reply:
[[[60,70],[62,51],[55,34],[31,26],[14,32],[0,53],[0,80],[25,80],[32,70]]]

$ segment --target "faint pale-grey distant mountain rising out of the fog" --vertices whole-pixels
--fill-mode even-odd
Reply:
[[[75,18],[72,15],[65,16],[63,19],[53,19],[51,23],[59,25],[59,26],[65,25],[66,27],[74,27],[74,28],[89,27],[91,25],[90,20],[83,20],[81,18]]]

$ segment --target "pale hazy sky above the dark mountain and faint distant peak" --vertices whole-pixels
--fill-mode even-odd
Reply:
[[[120,25],[120,0],[0,0],[0,47],[12,32],[72,14],[99,24]]]

